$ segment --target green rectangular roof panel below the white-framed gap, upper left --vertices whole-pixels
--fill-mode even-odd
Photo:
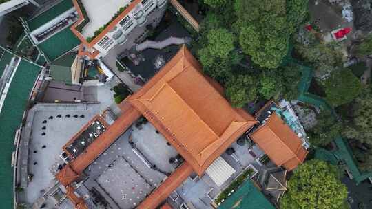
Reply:
[[[43,41],[38,46],[45,53],[50,61],[54,61],[59,56],[72,50],[80,44],[80,40],[72,33],[70,28],[65,28],[61,32]]]

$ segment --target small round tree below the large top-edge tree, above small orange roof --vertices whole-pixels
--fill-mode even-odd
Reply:
[[[262,72],[259,81],[258,93],[265,99],[278,96],[282,91],[282,77],[276,69]]]

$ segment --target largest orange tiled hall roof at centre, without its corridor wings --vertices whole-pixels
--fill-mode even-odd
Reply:
[[[256,124],[251,115],[232,108],[200,69],[182,47],[140,91],[127,98],[198,175]]]

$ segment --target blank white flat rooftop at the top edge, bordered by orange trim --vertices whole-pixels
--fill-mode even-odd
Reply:
[[[94,35],[96,30],[107,24],[112,17],[125,6],[130,4],[130,0],[81,0],[90,22],[83,28],[85,38]]]

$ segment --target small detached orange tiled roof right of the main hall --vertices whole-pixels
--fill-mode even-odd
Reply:
[[[276,113],[251,135],[251,139],[277,166],[284,166],[287,170],[293,170],[304,162],[308,153],[300,138]]]

